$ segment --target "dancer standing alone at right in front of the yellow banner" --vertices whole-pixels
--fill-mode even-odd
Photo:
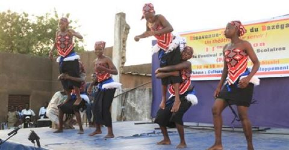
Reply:
[[[254,77],[260,63],[248,41],[241,40],[239,36],[246,33],[240,21],[231,21],[225,29],[225,36],[231,39],[231,43],[226,44],[223,49],[224,69],[221,80],[214,93],[215,103],[212,108],[215,144],[209,150],[222,150],[222,111],[230,105],[237,105],[239,119],[241,120],[244,134],[247,140],[247,149],[253,150],[252,129],[248,117],[248,108],[252,102],[254,85],[259,85],[259,79]],[[251,71],[247,68],[248,59],[251,59],[253,67]],[[228,77],[224,88],[225,79]],[[236,114],[237,115],[237,114]]]

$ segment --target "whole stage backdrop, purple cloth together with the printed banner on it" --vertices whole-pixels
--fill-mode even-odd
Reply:
[[[261,66],[258,71],[260,86],[255,87],[253,98],[257,104],[249,107],[252,126],[289,128],[289,16],[245,24],[247,33],[242,37],[251,42]],[[196,86],[198,104],[192,106],[184,116],[184,121],[213,123],[211,107],[214,104],[213,93],[219,82],[222,70],[222,47],[227,41],[222,32],[215,29],[182,34],[187,37],[188,45],[194,49],[191,59],[193,84]],[[214,37],[213,37],[214,35]],[[206,43],[205,43],[206,42]],[[155,44],[155,41],[152,42]],[[249,65],[252,66],[251,63]],[[159,67],[156,54],[152,57],[153,102],[151,116],[155,117],[161,101],[161,82],[154,72]],[[269,78],[270,77],[270,78]],[[241,126],[235,121],[229,108],[223,111],[224,125]]]

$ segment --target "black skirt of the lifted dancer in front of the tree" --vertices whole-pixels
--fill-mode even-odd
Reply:
[[[59,72],[67,73],[69,76],[79,78],[79,63],[78,59],[72,60],[72,61],[63,61],[62,65],[59,66]],[[63,86],[63,89],[73,89],[73,87],[80,87],[81,82],[72,81],[72,80],[61,80],[61,84]]]

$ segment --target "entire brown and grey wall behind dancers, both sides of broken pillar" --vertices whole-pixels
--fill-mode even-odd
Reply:
[[[106,48],[104,53],[106,56],[112,57],[112,47]],[[86,81],[90,82],[91,74],[94,72],[93,60],[96,59],[96,55],[94,51],[86,51],[80,56],[86,69]],[[150,70],[151,64],[124,67],[124,72],[138,74],[150,74]],[[6,121],[9,94],[30,95],[31,109],[38,115],[42,104],[50,101],[56,91],[62,90],[61,83],[57,81],[58,63],[50,61],[47,57],[0,52],[0,71],[0,122]],[[123,84],[123,92],[151,81],[151,77],[122,74],[120,81]],[[127,120],[148,120],[151,96],[151,84],[129,92],[125,110]],[[119,101],[119,107],[121,107],[121,101]],[[121,112],[121,109],[118,111]]]

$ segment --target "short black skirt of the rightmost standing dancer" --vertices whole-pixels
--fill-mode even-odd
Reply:
[[[238,83],[239,81],[236,81]],[[237,87],[237,84],[227,84],[220,91],[217,98],[224,99],[229,105],[247,106],[249,107],[252,102],[254,84],[249,83],[244,89]]]

